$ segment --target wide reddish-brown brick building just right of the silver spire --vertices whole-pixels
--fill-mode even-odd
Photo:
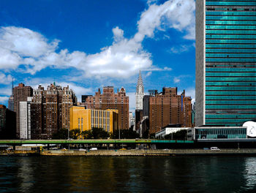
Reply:
[[[162,88],[149,98],[149,133],[159,132],[168,124],[192,126],[191,97],[177,94],[177,88]]]

